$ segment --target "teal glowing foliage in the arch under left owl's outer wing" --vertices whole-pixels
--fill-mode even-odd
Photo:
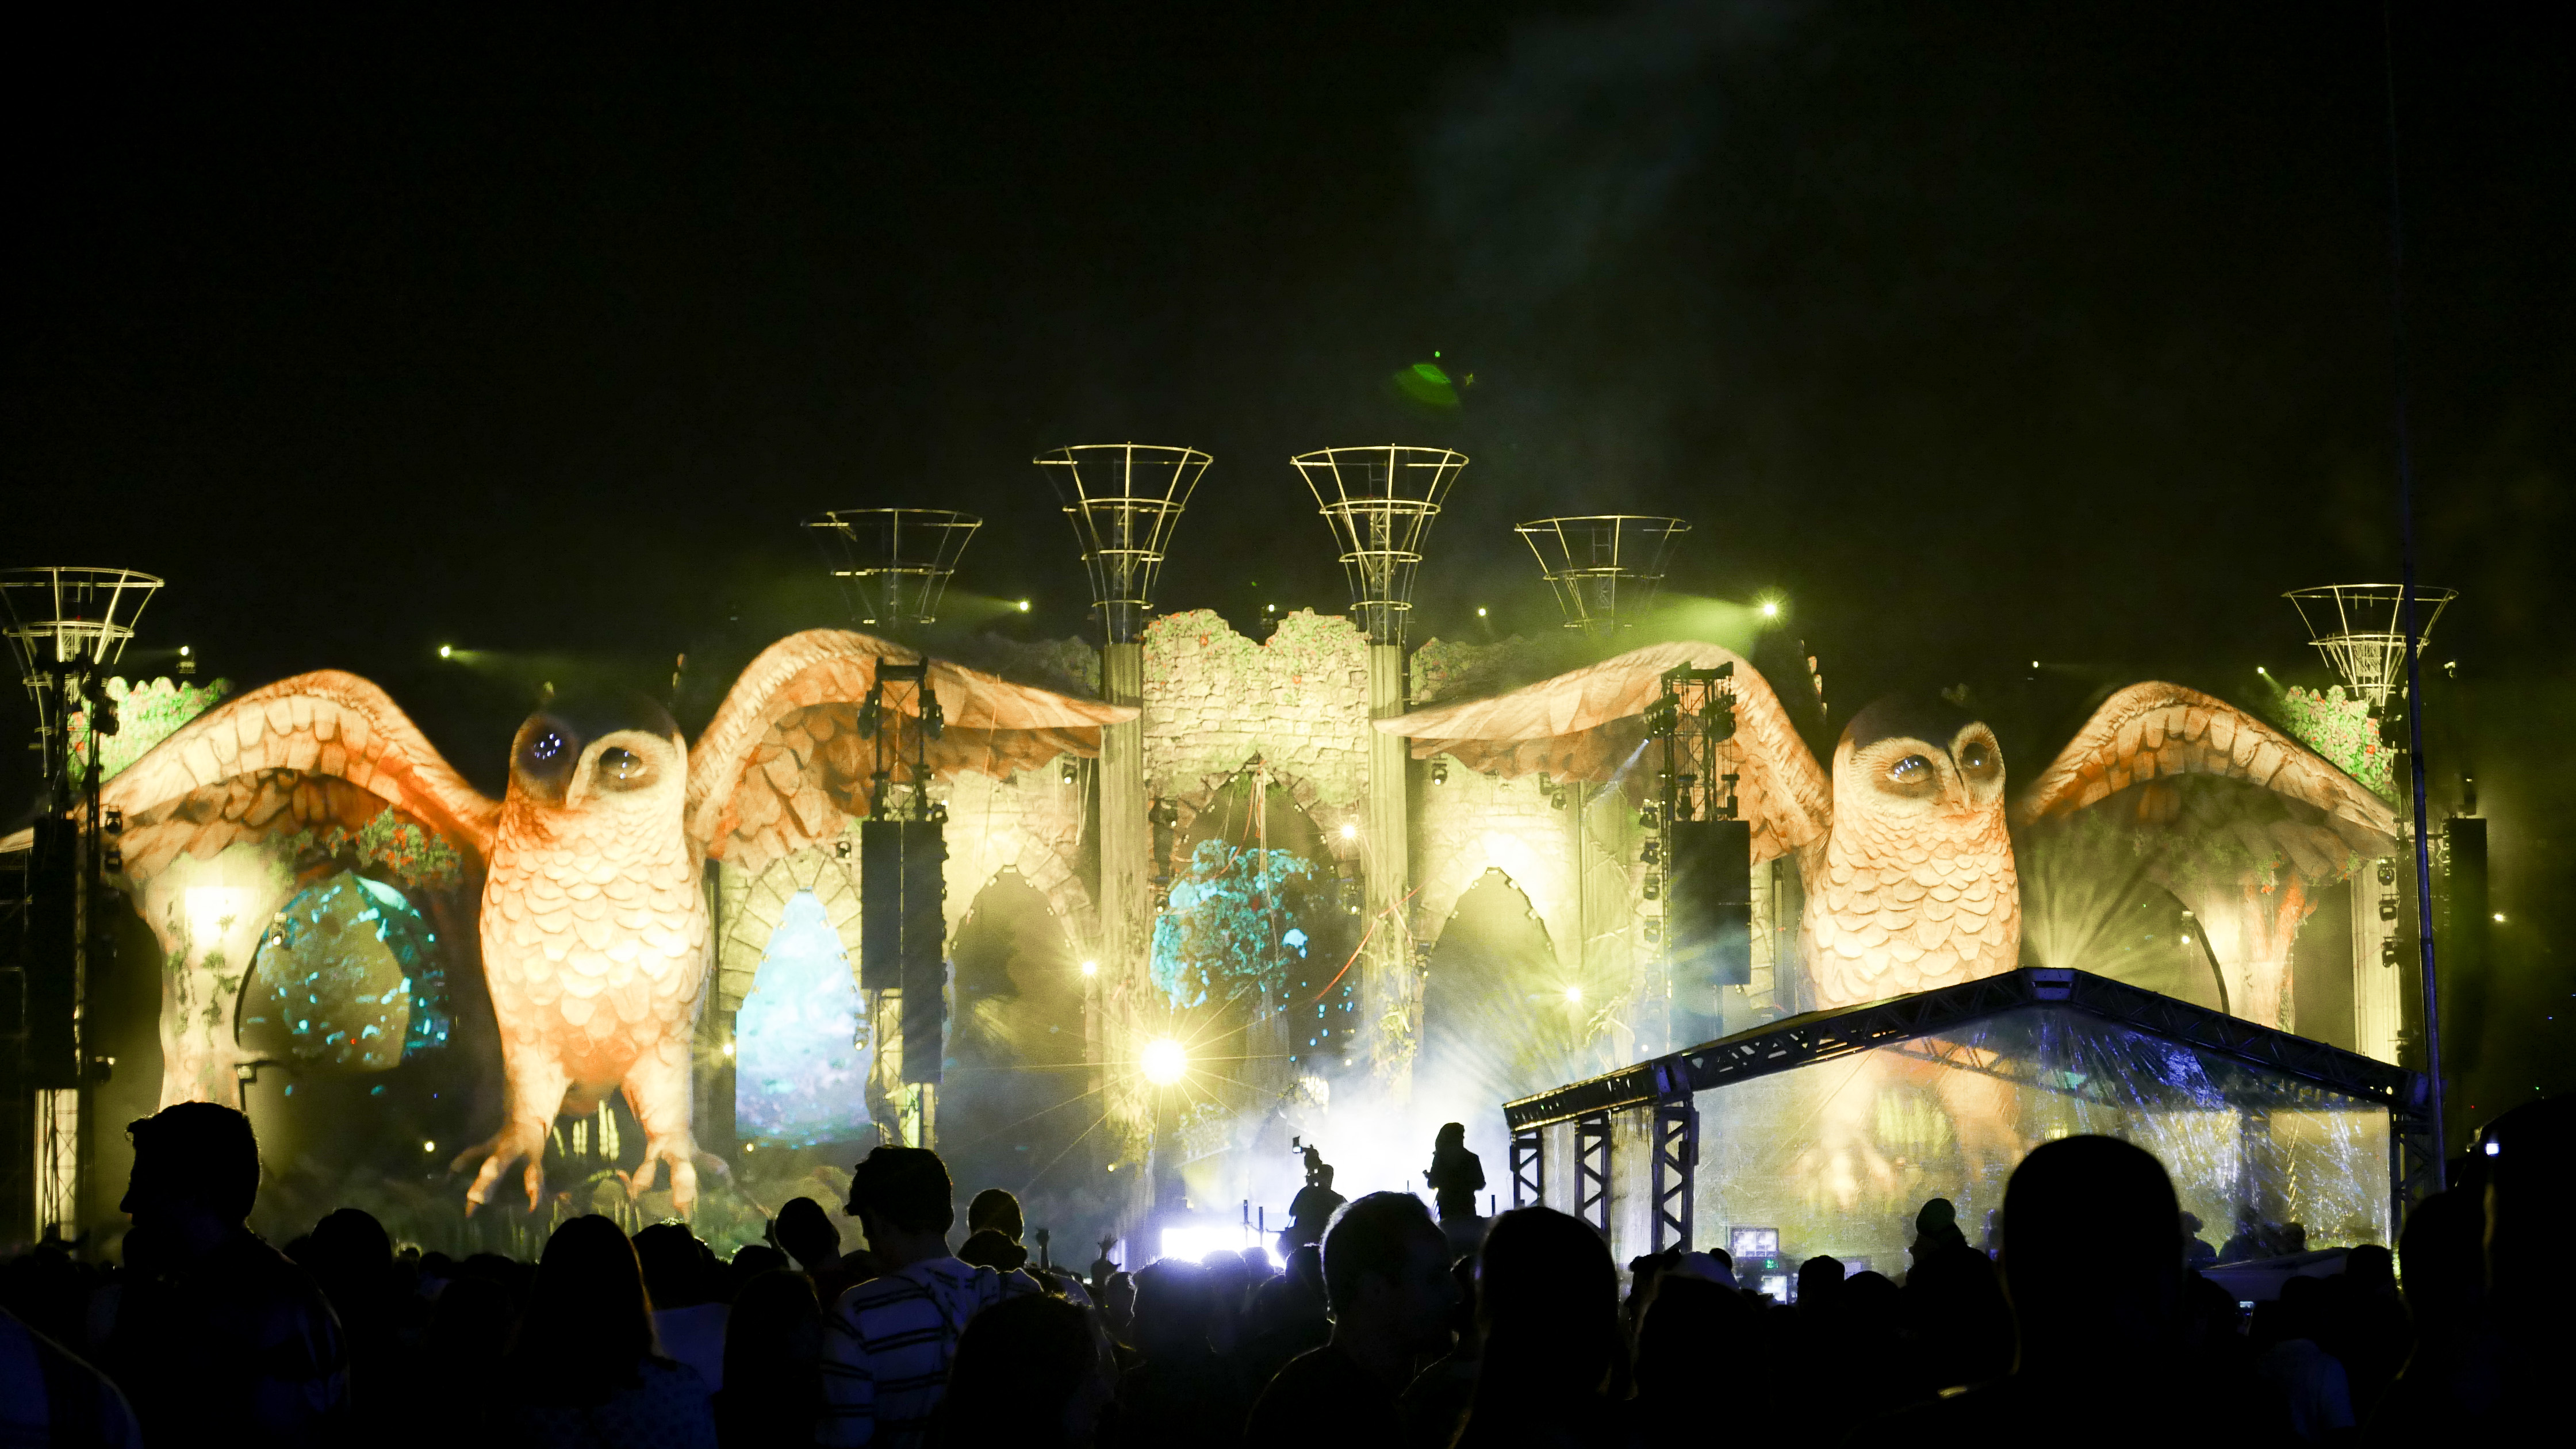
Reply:
[[[237,1036],[260,1057],[381,1073],[446,1047],[453,1026],[438,933],[399,890],[343,871],[268,928]]]

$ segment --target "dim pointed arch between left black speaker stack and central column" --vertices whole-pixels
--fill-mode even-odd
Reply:
[[[1082,964],[1064,923],[1046,892],[1002,871],[976,892],[948,962],[938,1147],[958,1201],[1010,1189],[1030,1230],[1084,1227],[1108,1207],[1097,1186],[1105,1134],[1095,1132]]]

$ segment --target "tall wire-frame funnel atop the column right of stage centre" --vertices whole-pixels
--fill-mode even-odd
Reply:
[[[1370,645],[1404,645],[1414,608],[1414,567],[1440,503],[1466,469],[1450,449],[1316,449],[1288,459],[1332,523],[1350,575],[1350,606]]]

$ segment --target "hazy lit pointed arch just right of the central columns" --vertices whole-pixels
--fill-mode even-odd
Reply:
[[[1458,897],[1432,946],[1417,1116],[1463,1122],[1494,1191],[1507,1189],[1502,1104],[1579,1075],[1595,1003],[1571,985],[1530,897],[1499,869]]]

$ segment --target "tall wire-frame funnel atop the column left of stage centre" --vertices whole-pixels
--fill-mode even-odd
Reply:
[[[1033,459],[1082,541],[1110,645],[1133,645],[1154,611],[1154,575],[1208,454],[1157,443],[1077,443]],[[1133,704],[1133,701],[1126,701]]]

